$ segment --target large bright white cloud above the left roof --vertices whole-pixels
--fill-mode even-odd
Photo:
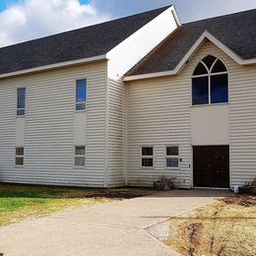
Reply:
[[[0,46],[109,20],[79,0],[25,0],[0,13]]]

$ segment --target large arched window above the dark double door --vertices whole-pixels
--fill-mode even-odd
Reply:
[[[192,104],[228,102],[228,74],[224,63],[208,55],[197,65],[192,77]]]

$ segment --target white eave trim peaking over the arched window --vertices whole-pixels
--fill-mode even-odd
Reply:
[[[189,62],[189,58],[193,55],[196,49],[203,43],[205,39],[209,39],[216,46],[221,48],[226,55],[232,58],[238,65],[251,65],[256,64],[256,58],[251,59],[242,59],[239,55],[237,55],[234,51],[224,45],[219,39],[217,39],[213,34],[208,31],[202,33],[202,35],[198,38],[198,40],[193,44],[190,50],[186,53],[186,55],[182,58],[182,60],[178,63],[178,65],[173,70],[162,71],[156,73],[148,73],[142,75],[132,75],[123,78],[123,81],[134,81],[134,80],[142,80],[149,78],[157,78],[157,77],[166,77],[177,75],[181,69]]]

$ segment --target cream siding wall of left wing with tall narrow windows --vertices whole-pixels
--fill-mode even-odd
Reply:
[[[75,81],[88,80],[86,168],[74,164]],[[25,165],[15,167],[16,88],[27,88]],[[0,181],[104,186],[106,63],[0,80]]]

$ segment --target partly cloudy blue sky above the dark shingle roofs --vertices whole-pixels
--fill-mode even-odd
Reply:
[[[0,0],[0,47],[170,4],[182,23],[256,8],[256,0]]]

